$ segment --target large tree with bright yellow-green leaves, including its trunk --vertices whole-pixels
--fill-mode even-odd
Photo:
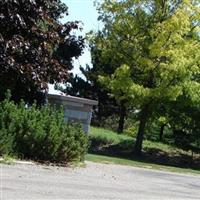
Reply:
[[[99,13],[106,33],[103,54],[119,61],[115,73],[101,82],[140,111],[134,148],[140,154],[157,105],[200,89],[194,79],[200,74],[199,1],[104,0]]]

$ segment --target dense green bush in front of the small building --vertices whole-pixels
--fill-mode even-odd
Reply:
[[[51,162],[82,160],[87,136],[77,124],[66,124],[62,109],[38,109],[8,98],[0,103],[0,154]]]

